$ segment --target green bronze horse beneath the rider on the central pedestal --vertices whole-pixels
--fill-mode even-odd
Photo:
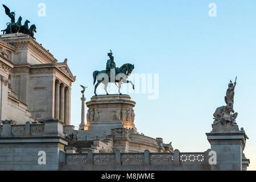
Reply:
[[[130,83],[133,86],[133,89],[135,89],[133,82],[127,80],[128,76],[131,75],[133,70],[134,70],[134,65],[133,64],[129,64],[129,63],[124,64],[124,65],[122,65],[121,68],[116,68],[115,69],[115,71],[117,73],[117,76],[114,79],[111,79],[111,77],[109,76],[108,71],[106,71],[106,70],[93,72],[93,85],[95,85],[96,80],[97,80],[97,84],[95,85],[95,89],[94,89],[95,96],[98,96],[96,94],[96,90],[98,88],[98,85],[100,85],[101,83],[103,83],[105,85],[104,90],[105,90],[107,95],[109,95],[108,90],[107,90],[109,82],[118,83],[118,93],[120,95],[122,95],[122,93],[120,92],[122,84]]]

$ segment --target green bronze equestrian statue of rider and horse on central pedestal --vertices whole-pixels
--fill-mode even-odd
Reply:
[[[98,88],[98,85],[100,85],[101,83],[105,85],[104,89],[107,95],[109,94],[107,90],[109,82],[114,82],[115,84],[118,83],[119,94],[121,94],[120,89],[123,83],[130,83],[134,89],[133,82],[127,80],[128,76],[134,70],[134,65],[127,63],[122,65],[122,67],[117,68],[114,62],[113,52],[111,50],[110,53],[108,53],[108,56],[110,59],[106,63],[106,70],[93,72],[93,85],[95,85],[97,81],[94,89],[95,96],[97,96],[96,90]]]

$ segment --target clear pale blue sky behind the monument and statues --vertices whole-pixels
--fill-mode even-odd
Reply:
[[[38,4],[46,4],[46,17]],[[216,3],[217,17],[208,16]],[[238,77],[234,109],[247,135],[245,154],[256,169],[256,1],[1,1],[35,23],[36,40],[68,65],[72,125],[80,123],[80,84],[93,96],[92,73],[105,69],[106,53],[135,73],[159,73],[159,98],[131,94],[140,133],[161,137],[180,151],[205,151],[214,110],[225,104],[230,78]],[[9,18],[0,11],[2,30]]]

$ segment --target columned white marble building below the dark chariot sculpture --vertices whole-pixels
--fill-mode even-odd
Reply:
[[[23,107],[23,117],[15,114],[1,113],[1,120],[9,119],[18,123],[26,123],[37,119],[56,118],[65,125],[71,123],[71,86],[76,78],[67,65],[67,60],[58,63],[55,57],[29,35],[1,35],[1,109],[5,109],[7,95],[9,102],[14,100]],[[5,53],[3,53],[5,52]],[[12,104],[13,106],[15,104]],[[20,109],[22,110],[22,109]],[[14,115],[14,116],[13,116]],[[27,119],[30,117],[30,119]],[[25,119],[26,118],[26,119]]]

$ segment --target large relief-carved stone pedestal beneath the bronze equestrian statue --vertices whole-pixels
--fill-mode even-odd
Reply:
[[[79,131],[79,140],[92,140],[112,135],[112,129],[130,129],[135,133],[134,110],[136,102],[128,95],[94,96],[86,102],[88,113],[85,131]]]

